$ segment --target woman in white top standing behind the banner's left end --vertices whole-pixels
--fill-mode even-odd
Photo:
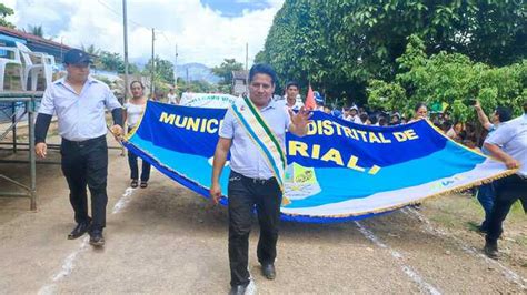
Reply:
[[[147,98],[145,96],[145,87],[139,81],[130,83],[130,92],[132,98],[125,103],[123,121],[128,123],[128,132],[131,132],[141,120],[145,108],[147,106]],[[136,189],[139,180],[139,167],[137,165],[137,155],[132,151],[128,151],[128,165],[130,166],[130,186]],[[148,180],[150,179],[150,164],[147,161],[142,161],[141,170],[141,189],[148,186]]]

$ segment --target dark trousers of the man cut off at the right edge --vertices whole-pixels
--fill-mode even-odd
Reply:
[[[488,223],[487,241],[496,242],[503,233],[503,224],[513,204],[521,201],[527,213],[527,179],[517,174],[495,182],[496,201]]]

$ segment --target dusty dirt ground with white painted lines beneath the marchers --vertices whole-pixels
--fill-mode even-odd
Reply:
[[[102,250],[66,238],[74,223],[60,166],[38,165],[37,212],[29,200],[0,197],[0,293],[227,293],[226,208],[155,170],[148,189],[129,189],[126,157],[111,150],[109,159]],[[26,165],[0,164],[0,173],[27,181]],[[360,222],[282,223],[275,281],[260,274],[255,223],[249,268],[262,294],[527,294],[525,215],[516,208],[506,222],[498,262],[470,225],[481,216],[474,197],[451,195]]]

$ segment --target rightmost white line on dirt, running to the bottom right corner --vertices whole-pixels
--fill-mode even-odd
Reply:
[[[473,255],[473,256],[476,256],[476,257],[479,257],[479,258],[483,258],[485,262],[487,262],[488,264],[493,264],[495,266],[497,266],[498,268],[501,269],[503,274],[505,275],[505,277],[517,284],[518,286],[520,286],[523,289],[527,289],[527,279],[525,279],[524,277],[521,277],[520,275],[518,275],[517,273],[515,273],[513,269],[510,268],[507,268],[505,265],[503,265],[501,263],[499,263],[498,261],[496,260],[491,260],[489,257],[487,257],[487,255],[483,254],[480,251],[478,251],[477,248],[473,247],[473,246],[469,246],[467,245],[463,240],[458,238],[457,236],[455,235],[451,235],[451,234],[448,234],[446,233],[445,231],[441,231],[439,228],[436,228],[431,225],[430,221],[425,216],[422,215],[421,213],[417,212],[416,210],[414,208],[409,208],[409,207],[406,207],[406,208],[402,208],[401,212],[410,217],[416,217],[418,221],[422,222],[424,223],[424,227],[425,227],[425,231],[428,232],[429,234],[431,235],[435,235],[435,236],[443,236],[443,237],[447,237],[447,238],[450,238],[453,241],[455,241],[460,247],[463,251],[465,251],[466,253]]]

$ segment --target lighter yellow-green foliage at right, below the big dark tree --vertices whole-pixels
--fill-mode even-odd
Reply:
[[[418,102],[428,105],[446,102],[456,120],[471,121],[475,112],[469,99],[479,99],[490,113],[498,105],[516,114],[527,95],[527,60],[508,67],[473,62],[460,53],[441,51],[429,58],[422,41],[412,35],[407,51],[397,59],[400,73],[394,82],[371,80],[369,104],[386,110],[410,110]]]

